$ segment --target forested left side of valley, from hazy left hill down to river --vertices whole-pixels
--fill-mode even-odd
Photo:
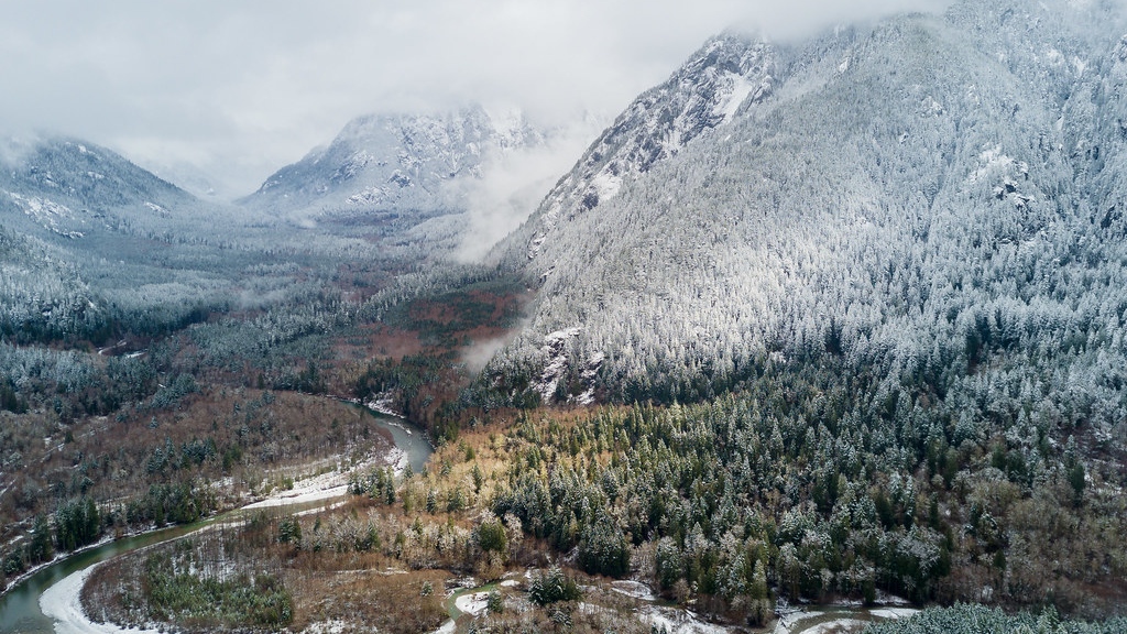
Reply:
[[[420,272],[419,248],[199,201],[92,143],[2,156],[0,585],[311,464],[375,459],[388,442],[340,399],[414,402],[431,421],[469,334],[514,318],[516,293],[474,289],[473,267]],[[382,375],[357,391],[370,367]]]

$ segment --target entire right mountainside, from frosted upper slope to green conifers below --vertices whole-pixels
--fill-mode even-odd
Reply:
[[[557,431],[495,512],[588,571],[656,544],[720,611],[753,610],[756,557],[795,598],[1119,610],[1125,32],[1115,3],[968,1],[708,43],[495,252],[539,292],[465,395],[671,408]],[[690,69],[770,90],[601,162],[727,103]]]

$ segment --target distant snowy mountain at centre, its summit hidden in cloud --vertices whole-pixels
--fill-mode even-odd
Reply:
[[[399,238],[416,229],[418,239],[450,243],[467,222],[467,184],[490,159],[544,142],[521,113],[477,105],[362,116],[240,202],[299,224],[384,226]]]

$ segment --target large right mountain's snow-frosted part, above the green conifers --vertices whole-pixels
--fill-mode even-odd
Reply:
[[[834,359],[956,419],[987,415],[984,389],[1030,390],[1110,430],[1125,25],[1112,2],[964,1],[710,41],[496,249],[539,296],[486,382],[684,400]]]

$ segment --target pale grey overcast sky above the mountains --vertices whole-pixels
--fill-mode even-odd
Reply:
[[[192,166],[240,195],[361,114],[613,116],[725,28],[789,37],[940,3],[6,0],[0,130],[80,137],[174,180]]]

